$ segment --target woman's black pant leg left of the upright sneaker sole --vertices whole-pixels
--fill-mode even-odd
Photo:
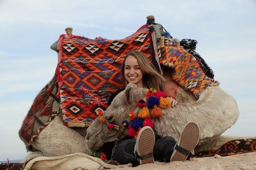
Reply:
[[[136,139],[125,139],[119,141],[114,152],[114,160],[121,164],[131,163],[133,166],[138,166],[139,161],[134,154]]]

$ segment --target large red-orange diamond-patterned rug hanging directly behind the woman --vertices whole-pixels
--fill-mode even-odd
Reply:
[[[151,60],[152,41],[148,26],[121,40],[101,37],[60,36],[60,106],[64,124],[88,127],[97,110],[106,110],[112,93],[122,87],[120,67],[131,50]]]

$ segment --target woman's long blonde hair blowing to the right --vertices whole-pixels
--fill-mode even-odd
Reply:
[[[146,86],[146,88],[148,89],[155,88],[157,90],[161,90],[162,81],[165,81],[165,78],[161,76],[159,73],[157,73],[157,71],[155,71],[154,68],[152,68],[152,66],[149,64],[149,59],[140,51],[130,51],[126,54],[123,60],[120,70],[120,76],[123,82],[123,86],[126,87],[129,83],[124,76],[124,62],[128,56],[133,56],[137,59],[139,63],[139,68],[143,73],[143,86]]]

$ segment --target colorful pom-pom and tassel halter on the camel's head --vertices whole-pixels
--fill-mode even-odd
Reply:
[[[149,112],[146,105],[151,108],[151,112]],[[138,100],[137,108],[134,112],[130,112],[128,119],[123,120],[121,127],[119,125],[112,124],[107,120],[105,120],[105,122],[108,124],[107,128],[109,129],[114,128],[116,130],[120,130],[120,128],[125,129],[128,127],[128,136],[136,138],[142,127],[150,126],[152,128],[154,126],[152,118],[161,117],[163,114],[162,109],[166,109],[170,107],[170,105],[171,102],[166,98],[165,92],[157,91],[155,88],[150,88],[144,99]]]

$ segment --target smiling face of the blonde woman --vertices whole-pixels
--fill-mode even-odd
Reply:
[[[131,55],[126,57],[124,61],[124,77],[129,83],[136,84],[138,88],[143,87],[143,73],[140,70],[138,60]]]

